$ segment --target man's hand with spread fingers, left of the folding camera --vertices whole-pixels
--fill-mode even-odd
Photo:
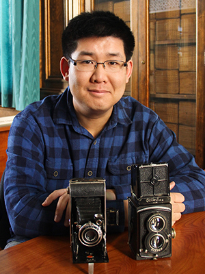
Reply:
[[[59,197],[57,207],[55,209],[54,221],[59,223],[66,209],[66,216],[64,225],[68,227],[70,225],[70,195],[68,195],[66,188],[53,191],[42,203],[42,206],[50,206],[55,199]]]

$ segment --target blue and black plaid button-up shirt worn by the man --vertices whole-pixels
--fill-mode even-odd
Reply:
[[[68,88],[32,103],[15,117],[7,153],[5,205],[14,239],[68,232],[63,221],[53,221],[57,201],[47,208],[42,202],[73,177],[103,177],[117,199],[127,199],[136,163],[168,162],[184,213],[204,210],[204,171],[159,116],[132,97],[114,105],[97,138],[79,124]]]

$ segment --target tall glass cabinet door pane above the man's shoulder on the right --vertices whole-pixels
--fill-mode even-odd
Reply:
[[[150,108],[195,155],[196,1],[150,0]]]

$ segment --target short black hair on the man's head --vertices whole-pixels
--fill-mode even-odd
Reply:
[[[81,38],[113,36],[124,43],[126,62],[131,59],[135,38],[126,23],[112,12],[83,12],[72,18],[62,34],[62,49],[68,59]]]

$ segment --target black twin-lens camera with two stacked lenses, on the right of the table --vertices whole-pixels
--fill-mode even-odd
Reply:
[[[134,164],[128,198],[128,244],[135,259],[172,256],[174,237],[168,164]]]

